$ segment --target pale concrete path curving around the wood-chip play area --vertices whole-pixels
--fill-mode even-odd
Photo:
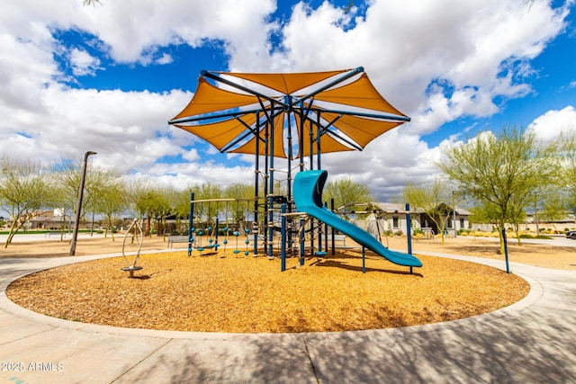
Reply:
[[[98,257],[0,259],[0,383],[576,382],[575,272],[512,263],[532,289],[508,308],[435,325],[329,334],[94,326],[36,314],[5,296],[24,274]]]

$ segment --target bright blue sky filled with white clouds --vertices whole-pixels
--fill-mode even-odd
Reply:
[[[251,156],[167,124],[200,71],[365,67],[412,121],[322,164],[386,201],[437,175],[440,146],[482,130],[576,129],[575,11],[574,0],[4,2],[0,154],[49,165],[93,150],[94,164],[161,184],[250,182]]]

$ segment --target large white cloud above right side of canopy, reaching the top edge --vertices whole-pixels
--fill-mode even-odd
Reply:
[[[297,70],[364,65],[384,96],[413,117],[411,131],[429,133],[461,116],[498,112],[498,95],[530,92],[522,83],[527,59],[562,31],[566,13],[545,2],[528,13],[518,1],[413,0],[407,7],[375,0],[365,20],[344,31],[342,10],[299,3],[284,27],[284,49]],[[437,79],[447,94],[428,95]]]

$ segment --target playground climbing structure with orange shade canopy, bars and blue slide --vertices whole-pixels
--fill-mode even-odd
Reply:
[[[392,263],[410,266],[411,271],[413,266],[421,266],[413,256],[406,258],[385,252],[385,247],[376,246],[361,236],[357,232],[360,228],[353,229],[343,225],[344,220],[326,216],[324,213],[328,210],[316,210],[322,206],[321,190],[320,194],[313,195],[314,203],[311,204],[308,198],[299,194],[300,186],[293,180],[296,170],[299,175],[315,168],[320,171],[322,153],[362,150],[374,138],[406,121],[410,118],[384,100],[364,68],[357,67],[299,74],[202,71],[192,101],[169,123],[204,138],[221,153],[255,156],[252,213],[257,228],[250,234],[246,232],[247,237],[253,236],[254,255],[257,255],[260,243],[264,255],[274,257],[277,231],[280,231],[282,255],[294,254],[298,247],[302,260],[305,233],[311,237],[308,242],[311,254],[326,255],[328,227],[331,227],[333,231],[336,229],[354,238],[363,249],[367,247]],[[285,167],[278,167],[275,163],[278,158],[285,159]],[[294,161],[297,161],[295,166]],[[281,172],[285,174],[284,191],[275,179]],[[319,177],[321,185],[317,183],[317,186],[323,187],[326,176]],[[263,196],[259,195],[260,179],[263,179]],[[302,181],[305,179],[302,176]],[[198,235],[198,230],[193,227],[193,204],[214,201],[194,201],[191,197],[188,255],[194,247],[206,249],[195,243],[194,234]],[[299,217],[300,221],[297,221]],[[218,223],[214,224],[216,236],[209,237],[209,240],[212,238],[211,248],[220,246]],[[324,246],[322,234],[326,240]],[[225,235],[227,243],[224,245],[228,245],[229,228]],[[233,236],[238,240],[239,233]],[[246,245],[248,243],[247,238]],[[300,246],[296,246],[298,244]]]

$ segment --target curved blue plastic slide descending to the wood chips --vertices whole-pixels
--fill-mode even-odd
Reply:
[[[328,178],[328,172],[322,170],[302,171],[294,178],[294,202],[296,210],[305,212],[311,217],[319,219],[332,228],[338,229],[351,237],[356,243],[372,250],[377,255],[398,265],[421,267],[422,263],[417,257],[400,252],[394,252],[383,246],[378,240],[365,230],[356,227],[346,220],[338,218],[322,205],[322,190]]]

